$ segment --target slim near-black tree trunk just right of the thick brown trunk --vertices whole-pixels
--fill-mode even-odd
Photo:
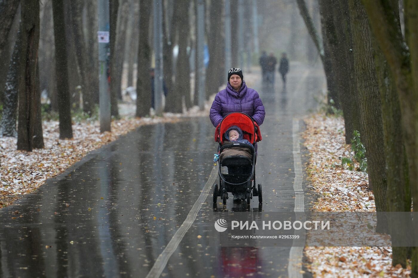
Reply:
[[[56,61],[56,84],[58,92],[59,138],[73,138],[71,127],[70,92],[68,88],[67,43],[65,39],[63,0],[52,2],[54,13],[54,38]]]

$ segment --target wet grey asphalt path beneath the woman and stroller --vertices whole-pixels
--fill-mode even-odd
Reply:
[[[288,276],[290,247],[220,247],[205,215],[293,211],[292,121],[316,105],[319,72],[294,66],[285,92],[281,80],[255,86],[267,113],[256,167],[263,205],[254,197],[249,209],[232,198],[213,207],[211,186],[161,276]],[[213,133],[208,118],[142,126],[0,210],[0,276],[145,277],[201,195]]]

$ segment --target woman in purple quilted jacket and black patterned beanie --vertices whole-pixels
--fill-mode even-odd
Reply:
[[[263,124],[265,117],[264,105],[259,94],[254,89],[247,87],[239,68],[231,68],[228,71],[227,87],[216,94],[209,111],[209,118],[212,124],[217,127],[225,116],[233,112],[241,112],[250,116],[258,126]],[[257,143],[254,145],[254,152],[256,156]],[[242,193],[234,194],[234,200],[240,199],[242,199]]]

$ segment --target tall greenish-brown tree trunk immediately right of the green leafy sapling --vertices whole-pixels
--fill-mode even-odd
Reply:
[[[387,211],[387,184],[385,149],[383,148],[382,104],[373,60],[372,40],[367,15],[360,0],[349,0],[349,6],[355,76],[364,131],[361,138],[366,149],[369,189],[373,190],[375,196],[376,211],[385,212]],[[389,232],[385,218],[377,217],[376,231],[377,233]]]

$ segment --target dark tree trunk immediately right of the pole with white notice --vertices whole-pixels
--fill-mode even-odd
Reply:
[[[116,65],[116,41],[117,41],[117,18],[119,11],[119,0],[109,0],[109,13],[110,13],[110,114],[112,116],[119,116],[117,109],[117,95],[116,95],[116,78],[117,78],[117,65]]]

